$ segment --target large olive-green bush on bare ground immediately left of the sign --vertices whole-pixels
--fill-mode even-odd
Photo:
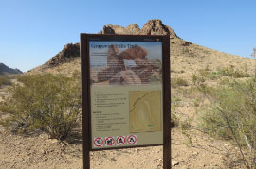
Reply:
[[[81,114],[79,78],[46,74],[18,80],[21,84],[14,84],[10,97],[0,104],[0,110],[9,114],[1,123],[27,132],[40,129],[50,138],[64,140]]]

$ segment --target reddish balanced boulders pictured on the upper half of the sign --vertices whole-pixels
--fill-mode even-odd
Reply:
[[[107,68],[98,72],[98,81],[110,80],[110,84],[148,83],[149,76],[152,75],[153,64],[146,57],[147,55],[147,50],[138,45],[126,49],[120,54],[117,46],[111,45],[108,48]],[[131,68],[132,71],[126,71],[127,68],[125,67],[124,60],[135,61],[136,66]]]

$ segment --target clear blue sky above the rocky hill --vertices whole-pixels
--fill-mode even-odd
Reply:
[[[250,57],[256,47],[255,0],[0,0],[0,62],[27,71],[80,33],[103,25],[141,28],[161,19],[187,41]]]

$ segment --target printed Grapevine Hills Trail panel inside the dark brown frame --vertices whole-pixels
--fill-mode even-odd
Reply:
[[[162,144],[161,39],[107,41],[98,37],[88,44],[92,142],[105,139],[105,144],[92,149]],[[117,136],[112,138],[115,144],[110,135]]]

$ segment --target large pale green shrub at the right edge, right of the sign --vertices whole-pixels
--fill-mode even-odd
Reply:
[[[254,80],[236,81],[229,83],[229,86],[219,86],[214,93],[211,93],[211,96],[215,102],[211,108],[205,111],[202,117],[202,127],[212,134],[228,139],[232,138],[232,133],[227,128],[232,127],[235,131],[235,137],[239,139],[241,144],[247,144],[244,139],[245,136],[249,143],[253,143],[250,130],[253,128],[253,123],[256,123],[256,86]]]

